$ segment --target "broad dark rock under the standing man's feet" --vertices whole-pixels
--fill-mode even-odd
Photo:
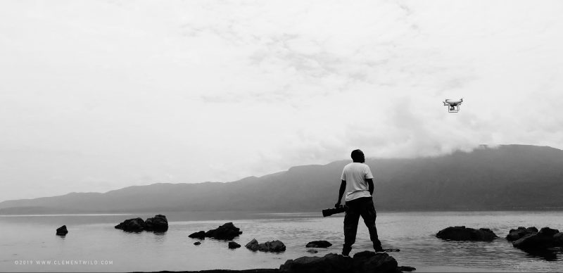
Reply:
[[[324,257],[301,257],[287,260],[284,265],[279,267],[279,271],[284,273],[395,273],[401,272],[403,268],[414,269],[413,267],[398,267],[395,258],[387,253],[362,251],[356,253],[353,258],[330,253]]]

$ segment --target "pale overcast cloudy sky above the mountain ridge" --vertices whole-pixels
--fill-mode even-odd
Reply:
[[[0,201],[563,149],[563,1],[0,1]],[[459,113],[442,101],[460,99]]]

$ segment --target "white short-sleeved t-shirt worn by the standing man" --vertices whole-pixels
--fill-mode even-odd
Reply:
[[[373,179],[372,170],[364,163],[350,163],[344,166],[341,179],[346,181],[345,201],[354,200],[360,197],[371,197],[369,185],[365,179]]]

